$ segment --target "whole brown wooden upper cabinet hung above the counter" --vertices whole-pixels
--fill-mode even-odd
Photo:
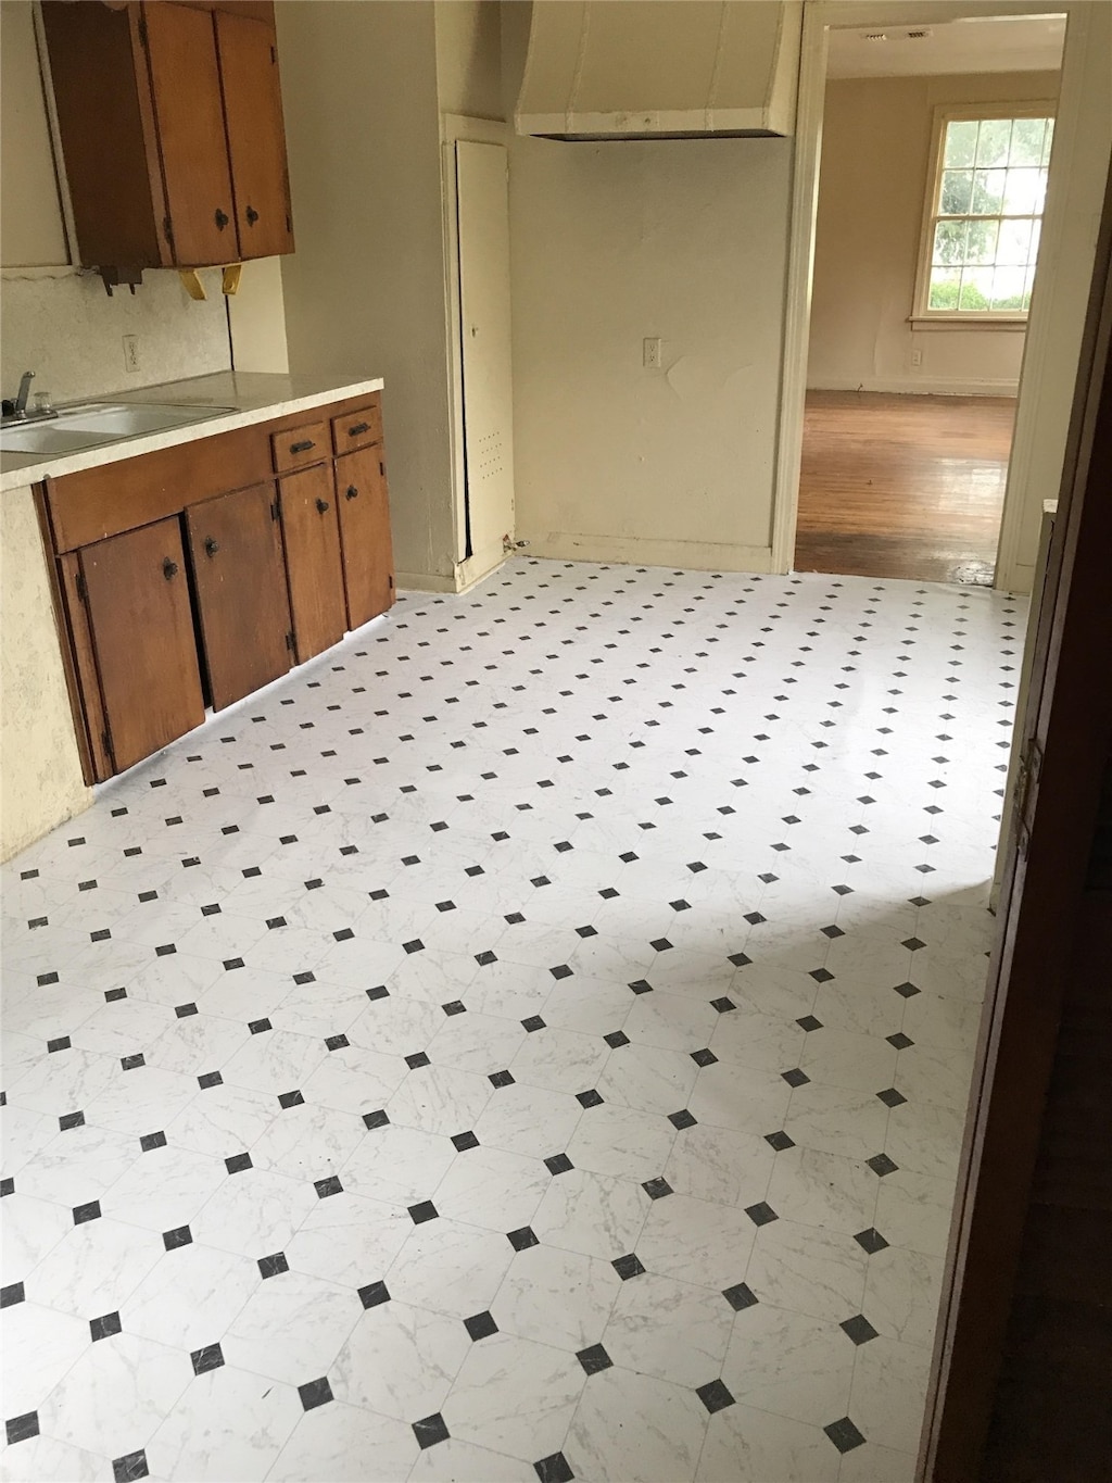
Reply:
[[[44,0],[43,25],[85,267],[292,252],[271,4]]]

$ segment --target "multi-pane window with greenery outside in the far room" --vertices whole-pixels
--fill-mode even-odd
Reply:
[[[1050,104],[940,110],[916,319],[1023,320],[1038,260]]]

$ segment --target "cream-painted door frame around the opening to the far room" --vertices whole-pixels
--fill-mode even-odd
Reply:
[[[1044,15],[1047,9],[1045,0],[921,0],[918,4],[909,4],[907,0],[807,0],[804,6],[772,509],[772,571],[775,572],[789,572],[795,565],[827,33],[832,28],[912,25],[992,15]],[[1076,95],[1082,85],[1088,13],[1087,6],[1078,4],[1078,0],[1054,0],[1051,9],[1069,18],[1062,70],[1063,87],[1059,95],[1059,128],[1056,129],[1056,157],[1062,160],[1065,174],[1072,156],[1069,139],[1065,139],[1065,144],[1062,139],[1069,132],[1069,114],[1076,107]],[[1044,237],[1053,243],[1062,239],[1069,215],[1068,206],[1075,206],[1072,202],[1068,203],[1068,194],[1066,188],[1051,190],[1047,199],[1042,230]],[[1065,267],[1059,264],[1059,270],[1068,273],[1069,264]],[[993,583],[1002,590],[1022,590],[1025,583],[1025,569],[1017,569],[1016,558],[1027,518],[1027,475],[1033,440],[1042,433],[1042,429],[1035,426],[1036,392],[1047,363],[1048,335],[1054,320],[1054,307],[1050,300],[1050,294],[1036,294],[1027,319],[1016,406],[1016,437],[1001,515],[1001,544]],[[1056,492],[1056,489],[1044,491],[1039,500]]]

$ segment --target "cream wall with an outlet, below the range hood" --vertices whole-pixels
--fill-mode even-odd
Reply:
[[[507,96],[528,6],[504,9]],[[538,555],[767,571],[792,144],[510,157],[517,535]],[[660,335],[664,369],[642,366]]]

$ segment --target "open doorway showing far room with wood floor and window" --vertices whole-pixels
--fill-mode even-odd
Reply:
[[[992,586],[1063,40],[830,31],[796,569]]]

